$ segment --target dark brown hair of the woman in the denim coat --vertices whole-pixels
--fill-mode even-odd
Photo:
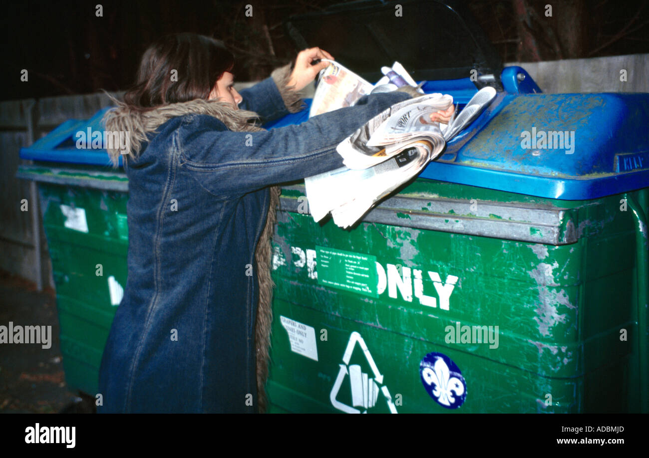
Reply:
[[[215,82],[232,67],[234,56],[219,40],[193,33],[166,35],[142,55],[137,82],[124,101],[130,108],[147,111],[207,99]]]

